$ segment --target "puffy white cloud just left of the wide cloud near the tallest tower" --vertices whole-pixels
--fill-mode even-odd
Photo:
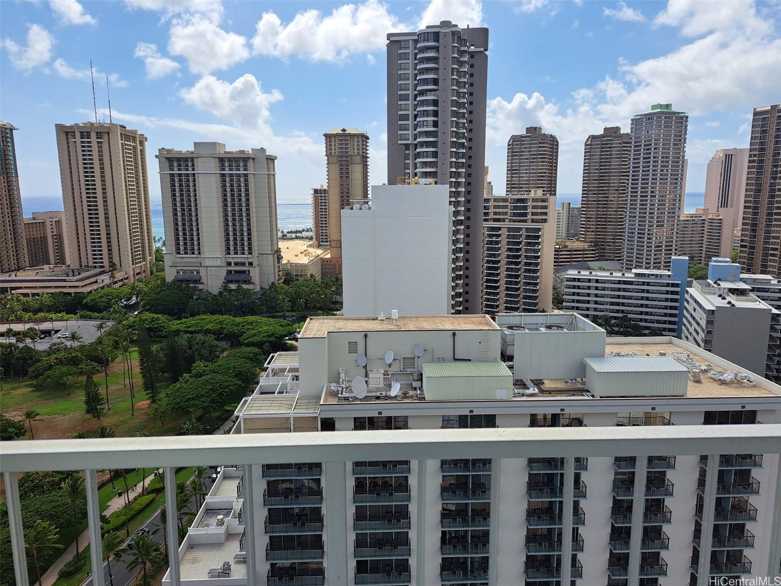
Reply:
[[[171,23],[168,52],[187,59],[193,73],[226,70],[249,57],[247,39],[205,16],[185,15]]]

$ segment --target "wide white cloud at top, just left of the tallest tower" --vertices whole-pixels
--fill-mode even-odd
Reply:
[[[438,22],[438,21],[437,21]],[[273,12],[263,13],[252,39],[255,55],[287,59],[291,55],[310,61],[340,63],[355,53],[383,49],[385,35],[401,30],[387,5],[377,0],[347,4],[323,16],[319,10],[297,13],[284,24]]]

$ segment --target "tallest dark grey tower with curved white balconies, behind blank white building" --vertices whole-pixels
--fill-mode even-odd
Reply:
[[[480,313],[488,29],[388,34],[388,184],[448,185],[454,313]]]

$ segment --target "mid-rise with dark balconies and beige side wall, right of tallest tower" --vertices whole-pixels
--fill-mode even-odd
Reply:
[[[494,195],[483,216],[483,313],[550,311],[556,198]]]

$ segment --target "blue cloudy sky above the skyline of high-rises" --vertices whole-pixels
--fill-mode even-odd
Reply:
[[[158,148],[219,141],[276,155],[278,202],[326,182],[323,132],[370,137],[386,174],[386,34],[451,20],[490,30],[486,164],[505,188],[511,134],[558,137],[558,191],[580,193],[583,142],[672,102],[690,114],[687,191],[718,148],[745,148],[751,110],[781,101],[781,0],[4,0],[0,119],[18,127],[25,213],[62,209],[54,124],[98,118]],[[56,206],[56,207],[55,207]]]

